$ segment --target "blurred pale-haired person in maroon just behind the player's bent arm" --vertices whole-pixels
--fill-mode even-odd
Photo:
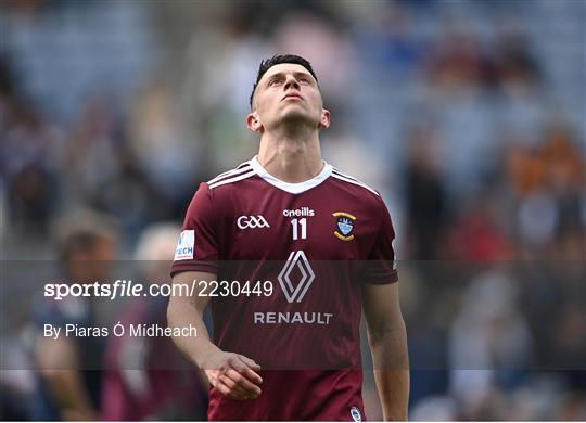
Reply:
[[[168,269],[181,228],[156,223],[141,234],[135,255],[141,280],[170,283]],[[131,298],[125,307],[123,325],[166,326],[168,298]],[[102,386],[102,419],[205,420],[207,382],[177,350],[168,337],[110,337]]]

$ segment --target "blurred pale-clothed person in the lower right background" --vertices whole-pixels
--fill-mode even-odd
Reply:
[[[517,282],[502,271],[479,274],[464,292],[449,339],[450,388],[463,406],[460,419],[505,419],[499,383],[514,386],[518,369],[531,362],[531,333],[518,311],[519,295]]]

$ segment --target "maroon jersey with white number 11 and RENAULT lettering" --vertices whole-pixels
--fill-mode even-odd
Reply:
[[[379,193],[328,164],[288,183],[255,157],[202,183],[171,274],[218,275],[214,342],[264,379],[255,400],[212,388],[209,419],[362,420],[360,285],[397,281],[393,239]]]

